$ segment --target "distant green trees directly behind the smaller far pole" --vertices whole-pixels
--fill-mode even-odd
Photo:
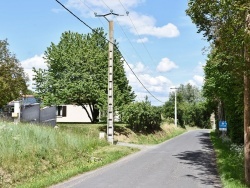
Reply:
[[[190,125],[210,128],[211,109],[204,101],[201,91],[191,84],[180,85],[177,89],[177,119],[180,126]],[[169,101],[163,105],[163,117],[174,118],[175,96],[170,94]]]

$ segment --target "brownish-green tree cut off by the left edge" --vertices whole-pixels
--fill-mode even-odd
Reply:
[[[7,40],[0,40],[0,108],[28,91],[28,77],[8,45]]]

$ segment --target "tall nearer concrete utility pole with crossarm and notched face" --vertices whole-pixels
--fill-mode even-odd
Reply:
[[[113,13],[112,10],[110,10],[110,13],[105,15],[97,15],[95,13],[96,17],[104,17],[109,23],[107,139],[109,143],[114,144],[114,97],[113,97],[114,22],[106,18],[106,16],[108,15],[115,15],[115,16],[122,16],[122,15],[115,14]]]

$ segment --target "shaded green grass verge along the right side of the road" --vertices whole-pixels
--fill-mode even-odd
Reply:
[[[244,152],[242,146],[231,144],[211,132],[219,174],[226,188],[246,188],[244,183]]]

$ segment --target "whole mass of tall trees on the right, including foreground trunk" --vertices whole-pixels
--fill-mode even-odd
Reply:
[[[245,181],[250,185],[250,2],[189,0],[188,6],[198,32],[211,43],[204,95],[217,120],[227,120],[230,139],[244,141]]]

